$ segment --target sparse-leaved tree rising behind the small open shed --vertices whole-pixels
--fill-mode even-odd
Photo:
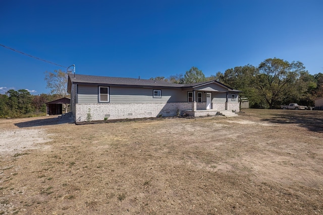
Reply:
[[[66,97],[68,74],[59,70],[54,70],[53,73],[49,71],[45,72],[45,81],[47,82],[46,88],[50,89],[51,94],[59,94],[62,97]]]

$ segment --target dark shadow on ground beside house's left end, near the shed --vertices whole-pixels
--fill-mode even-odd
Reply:
[[[58,124],[65,124],[65,123],[74,123],[74,121],[71,118],[59,119],[58,117],[56,117],[56,118],[47,118],[47,119],[35,119],[27,122],[18,122],[18,123],[15,123],[15,125],[20,128],[25,128],[25,127],[44,126],[44,125],[58,125]]]

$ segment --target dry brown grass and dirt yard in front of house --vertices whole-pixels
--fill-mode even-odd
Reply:
[[[323,214],[323,111],[0,120],[0,214]]]

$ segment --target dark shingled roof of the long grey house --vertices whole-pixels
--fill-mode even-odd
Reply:
[[[117,78],[117,77],[102,77],[102,76],[88,76],[79,74],[70,74],[68,82],[68,92],[71,90],[72,84],[101,84],[101,85],[116,85],[116,86],[144,86],[144,87],[166,87],[166,88],[194,88],[197,86],[202,86],[210,83],[217,83],[227,88],[229,91],[241,92],[234,90],[224,84],[217,81],[207,81],[201,83],[193,84],[174,84],[165,81],[155,81],[147,79],[134,79],[134,78]]]

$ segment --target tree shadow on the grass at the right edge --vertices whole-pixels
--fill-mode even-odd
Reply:
[[[321,113],[321,111],[292,111],[284,115],[277,114],[276,116],[262,120],[272,123],[298,124],[310,131],[323,133],[323,117]]]

